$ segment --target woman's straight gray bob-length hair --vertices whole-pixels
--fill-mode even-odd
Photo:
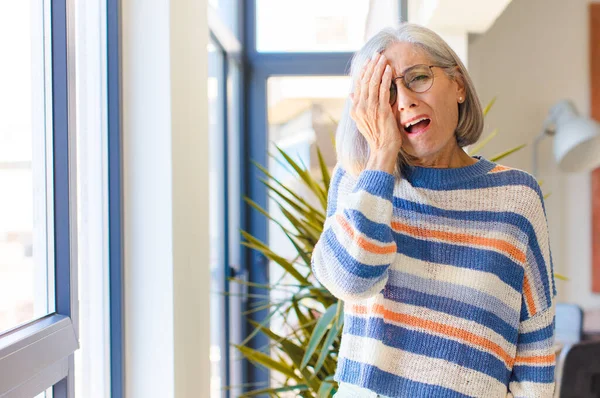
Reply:
[[[352,87],[359,78],[361,69],[375,52],[381,53],[392,44],[401,42],[414,44],[424,50],[431,62],[443,67],[451,79],[460,75],[465,86],[466,99],[458,104],[456,141],[461,148],[477,142],[483,131],[483,111],[475,86],[460,58],[438,34],[430,29],[416,24],[402,23],[398,27],[381,30],[354,54],[350,67]],[[347,98],[337,127],[336,151],[338,162],[342,167],[357,176],[367,164],[369,146],[350,116],[351,108],[352,101]],[[400,150],[394,174],[397,177],[401,176],[404,167],[411,165],[413,160],[414,158],[404,150]]]

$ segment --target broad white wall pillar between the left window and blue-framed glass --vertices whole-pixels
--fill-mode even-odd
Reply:
[[[209,396],[206,0],[122,1],[125,396]]]

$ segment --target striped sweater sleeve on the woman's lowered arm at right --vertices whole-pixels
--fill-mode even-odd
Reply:
[[[525,214],[529,214],[528,244],[523,278],[521,317],[515,363],[509,382],[514,397],[551,398],[555,389],[554,267],[548,225],[539,185]],[[510,396],[510,394],[509,394]]]

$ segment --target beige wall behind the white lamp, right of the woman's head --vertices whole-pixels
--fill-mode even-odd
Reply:
[[[482,102],[498,97],[486,133],[497,127],[499,136],[485,156],[530,144],[559,99],[571,99],[589,115],[588,2],[513,0],[470,44],[469,69]],[[538,178],[551,192],[546,209],[555,271],[571,278],[557,279],[559,300],[600,307],[600,295],[591,292],[590,175],[559,171],[549,138],[539,150]],[[531,147],[500,163],[531,172]]]

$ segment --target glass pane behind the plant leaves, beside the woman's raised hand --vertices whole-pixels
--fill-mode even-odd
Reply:
[[[333,140],[337,120],[339,120],[342,108],[349,93],[350,79],[348,77],[273,77],[268,80],[268,123],[270,143],[269,152],[276,153],[275,145],[293,158],[301,165],[305,165],[315,178],[319,178],[320,167],[317,157],[317,146],[321,150],[325,163],[330,172],[335,166],[335,151]],[[286,161],[282,156],[269,158],[269,171],[281,183],[287,186],[298,196],[310,203],[317,209],[324,211],[323,206],[310,190],[295,178],[286,167]],[[269,214],[281,225],[292,233],[297,231],[292,223],[279,209],[278,203],[270,199]],[[290,207],[287,207],[291,210]],[[293,211],[293,210],[292,210]],[[294,213],[298,214],[298,213]],[[292,245],[286,234],[275,222],[269,224],[269,246],[281,257],[290,261],[298,257],[298,251]],[[297,260],[295,268],[303,275],[309,273],[308,267],[301,260]],[[283,268],[275,262],[269,266],[270,283],[280,286],[280,289],[271,291],[272,302],[289,302],[291,294],[298,294],[298,281],[286,274]],[[316,283],[315,281],[312,281]],[[323,308],[310,299],[304,299],[300,308],[305,316],[308,311],[317,309],[322,312]],[[294,334],[298,326],[298,320],[292,311],[287,319],[281,316],[271,318],[271,330],[279,335],[302,336],[302,333]],[[308,341],[296,341],[300,346],[306,346]],[[273,352],[275,355],[275,352]],[[281,352],[278,355],[284,355]],[[285,356],[285,355],[284,355]],[[271,374],[273,386],[279,386],[284,381],[281,375],[273,372]]]

